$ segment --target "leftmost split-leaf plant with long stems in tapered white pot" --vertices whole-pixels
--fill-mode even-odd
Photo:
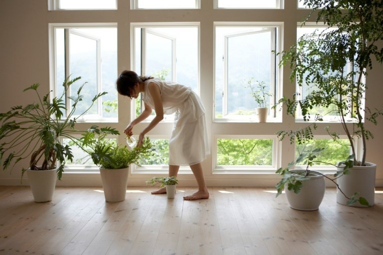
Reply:
[[[49,93],[41,97],[39,84],[24,89],[37,95],[37,102],[26,106],[12,107],[0,114],[0,163],[3,170],[25,158],[29,158],[28,167],[21,169],[21,178],[26,172],[35,202],[52,200],[57,178],[60,180],[64,171],[65,159],[72,161],[73,154],[69,145],[63,146],[59,137],[69,138],[75,143],[78,139],[72,134],[78,131],[75,123],[106,92],[96,95],[92,104],[80,115],[76,113],[77,104],[82,100],[81,91],[85,83],[77,90],[76,95],[67,97],[70,86],[81,79],[69,77],[63,82],[63,92],[50,99]],[[72,107],[67,111],[65,101],[70,100]]]

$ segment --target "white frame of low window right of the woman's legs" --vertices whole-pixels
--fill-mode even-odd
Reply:
[[[217,140],[218,139],[271,139],[273,141],[273,159],[270,166],[218,166],[217,165]],[[214,135],[213,136],[213,174],[265,174],[275,173],[280,167],[281,141],[276,135]]]

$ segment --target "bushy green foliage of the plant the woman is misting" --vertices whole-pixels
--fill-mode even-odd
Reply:
[[[115,128],[92,126],[86,133],[82,134],[81,147],[91,156],[94,164],[107,169],[126,168],[131,164],[140,165],[140,156],[150,157],[153,155],[149,137],[144,139],[141,146],[129,150],[126,145],[120,146],[107,138],[107,135],[118,134],[120,132]]]

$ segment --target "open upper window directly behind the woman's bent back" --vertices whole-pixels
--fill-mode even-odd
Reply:
[[[198,93],[198,24],[132,24],[132,32],[135,72],[178,82]],[[141,99],[133,104],[137,117],[143,109]]]

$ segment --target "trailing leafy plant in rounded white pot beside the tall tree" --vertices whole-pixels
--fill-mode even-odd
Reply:
[[[325,195],[325,178],[327,178],[336,185],[339,193],[348,200],[347,205],[353,205],[359,202],[363,206],[369,206],[369,202],[366,198],[358,197],[359,193],[355,193],[351,197],[348,197],[336,182],[337,178],[347,174],[349,169],[353,167],[353,156],[350,156],[346,161],[340,162],[337,165],[338,171],[334,174],[334,178],[330,178],[318,171],[309,170],[309,167],[316,162],[330,164],[328,162],[316,160],[317,155],[324,149],[325,148],[304,150],[294,162],[289,163],[285,168],[279,168],[276,173],[281,175],[282,179],[275,186],[277,189],[276,196],[278,197],[282,194],[282,191],[285,190],[291,208],[302,211],[318,210]],[[290,169],[300,162],[304,162],[306,165],[305,169]]]

